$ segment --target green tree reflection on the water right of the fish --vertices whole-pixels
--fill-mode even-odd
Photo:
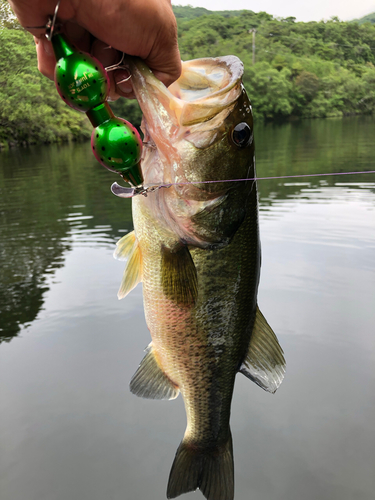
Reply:
[[[255,130],[258,176],[284,176],[374,170],[371,130],[374,117],[344,120],[306,120],[283,126],[268,124]],[[360,188],[369,183],[374,192],[373,174],[312,177],[259,182],[262,204],[298,195],[302,189],[336,186]]]

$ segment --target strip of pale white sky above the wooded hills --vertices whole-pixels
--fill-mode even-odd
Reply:
[[[274,17],[297,18],[297,21],[320,21],[337,16],[342,21],[357,19],[375,12],[375,0],[172,0],[173,5],[205,7],[208,10],[265,11]]]

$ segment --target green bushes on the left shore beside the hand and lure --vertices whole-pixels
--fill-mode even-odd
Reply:
[[[9,17],[2,21],[10,24]],[[31,35],[18,24],[0,27],[0,46],[0,144],[89,138],[86,117],[68,108],[53,82],[38,72]]]

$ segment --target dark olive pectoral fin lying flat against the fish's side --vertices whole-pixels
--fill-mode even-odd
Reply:
[[[173,252],[162,247],[162,284],[165,295],[180,307],[193,307],[198,297],[197,270],[189,249]]]

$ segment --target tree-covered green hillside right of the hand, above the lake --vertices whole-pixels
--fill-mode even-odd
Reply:
[[[375,111],[374,25],[338,18],[300,23],[252,11],[174,11],[182,59],[234,54],[243,61],[245,87],[258,120]]]

